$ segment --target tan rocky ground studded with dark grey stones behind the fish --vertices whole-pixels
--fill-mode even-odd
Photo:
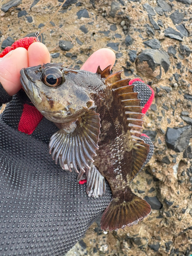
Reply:
[[[44,28],[63,0],[4,0],[0,46]],[[155,153],[132,183],[152,206],[133,227],[103,232],[98,219],[66,255],[192,254],[192,2],[191,0],[68,0],[43,34],[52,61],[79,69],[97,49],[116,54],[113,71],[141,77],[155,91],[144,133]]]

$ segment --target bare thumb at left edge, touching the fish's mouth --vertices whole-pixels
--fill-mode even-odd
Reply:
[[[28,54],[25,48],[17,48],[0,58],[0,82],[12,96],[21,88],[20,70],[28,67]]]

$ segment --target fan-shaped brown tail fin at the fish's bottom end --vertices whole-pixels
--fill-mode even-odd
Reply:
[[[123,202],[117,198],[111,201],[102,215],[101,229],[112,231],[133,226],[150,214],[151,206],[144,199],[133,193],[129,198],[130,200]]]

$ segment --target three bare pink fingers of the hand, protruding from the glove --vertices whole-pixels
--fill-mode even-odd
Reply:
[[[0,82],[6,92],[12,96],[22,88],[20,84],[21,69],[49,62],[49,51],[41,42],[31,44],[28,51],[22,47],[17,48],[0,58]],[[109,65],[113,67],[114,63],[114,52],[110,49],[100,49],[89,57],[81,69],[96,72],[99,65],[101,69],[104,69]]]

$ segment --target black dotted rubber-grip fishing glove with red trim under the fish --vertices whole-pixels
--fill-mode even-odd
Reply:
[[[1,73],[0,81],[5,84]],[[153,100],[152,90],[143,93],[146,85],[132,82],[147,109]],[[2,84],[3,103],[10,96]],[[53,162],[48,144],[57,127],[39,115],[22,90],[12,97],[0,123],[0,255],[63,255],[109,205],[110,186],[106,182],[105,195],[90,198],[86,183],[79,184],[75,172],[62,170]],[[142,139],[150,144],[147,162],[153,144],[145,135]]]

